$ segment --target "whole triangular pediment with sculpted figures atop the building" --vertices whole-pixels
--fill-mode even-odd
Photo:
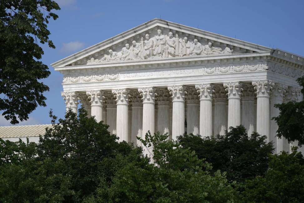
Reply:
[[[270,51],[268,47],[250,42],[153,19],[51,65],[56,68]]]

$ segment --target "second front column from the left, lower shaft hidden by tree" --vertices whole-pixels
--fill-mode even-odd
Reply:
[[[88,99],[91,102],[91,116],[95,116],[97,122],[102,121],[102,104],[104,101],[104,91],[89,91],[86,92]]]

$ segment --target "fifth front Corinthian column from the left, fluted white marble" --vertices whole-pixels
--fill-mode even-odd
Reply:
[[[172,95],[172,140],[185,132],[185,86],[168,87]]]

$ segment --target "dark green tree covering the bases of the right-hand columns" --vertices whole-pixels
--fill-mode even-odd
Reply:
[[[183,135],[178,141],[184,148],[194,150],[199,159],[212,163],[211,173],[227,172],[227,179],[242,182],[268,169],[268,154],[274,148],[266,144],[266,136],[254,132],[248,137],[244,126],[230,127],[224,136],[202,138],[200,135]]]

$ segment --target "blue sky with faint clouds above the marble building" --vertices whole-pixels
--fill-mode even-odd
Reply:
[[[50,77],[43,82],[47,107],[38,107],[20,125],[50,123],[48,111],[63,117],[62,75],[50,66],[64,57],[94,45],[155,17],[228,37],[280,48],[304,56],[304,1],[105,1],[57,0],[59,18],[50,21],[50,39],[56,49],[43,45],[42,62]],[[0,126],[9,122],[0,116]]]

